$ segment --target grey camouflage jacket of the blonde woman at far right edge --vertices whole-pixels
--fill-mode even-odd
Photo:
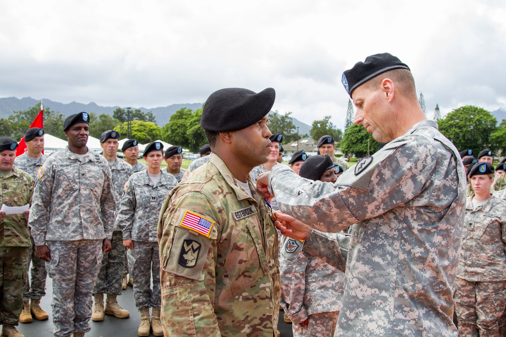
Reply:
[[[457,276],[468,281],[506,279],[506,201],[491,197],[473,208],[466,202],[466,220]]]

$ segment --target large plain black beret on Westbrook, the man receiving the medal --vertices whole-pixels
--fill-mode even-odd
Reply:
[[[200,126],[214,132],[244,129],[264,118],[275,98],[273,88],[259,93],[243,88],[220,89],[205,101]]]

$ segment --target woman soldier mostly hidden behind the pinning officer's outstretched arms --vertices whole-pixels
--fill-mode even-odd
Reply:
[[[309,157],[301,177],[334,183],[334,163],[329,155]],[[337,239],[342,233],[326,233]],[[332,336],[344,292],[342,271],[303,250],[303,243],[284,237],[280,249],[281,306],[293,322],[293,336]]]

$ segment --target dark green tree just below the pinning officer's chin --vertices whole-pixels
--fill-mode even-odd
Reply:
[[[379,142],[372,138],[362,125],[352,124],[346,129],[341,140],[341,151],[346,155],[354,154],[357,158],[367,156],[367,141],[369,141],[369,154],[377,151]]]

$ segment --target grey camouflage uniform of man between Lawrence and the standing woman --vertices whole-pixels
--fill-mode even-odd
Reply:
[[[132,165],[119,158],[116,158],[110,169],[117,211],[119,209],[119,198],[123,193],[123,186],[134,172],[132,171]],[[111,244],[112,250],[102,256],[102,266],[93,287],[93,294],[121,295],[126,247],[123,246],[123,234],[118,226],[114,227],[112,232]]]

